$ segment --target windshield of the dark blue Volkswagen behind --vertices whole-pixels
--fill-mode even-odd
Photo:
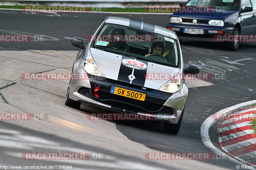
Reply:
[[[238,0],[190,0],[186,6],[211,6],[223,10],[238,10]]]

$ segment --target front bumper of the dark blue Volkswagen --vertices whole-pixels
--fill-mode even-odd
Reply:
[[[212,40],[214,35],[230,35],[233,33],[233,27],[217,27],[217,26],[197,26],[197,25],[185,25],[185,24],[168,24],[168,27],[174,28],[173,31],[177,34],[178,38],[181,40],[191,40],[191,41],[208,41],[215,42]],[[203,29],[204,34],[189,34],[184,33],[185,28]],[[178,29],[178,30],[177,30]],[[223,33],[209,33],[210,31],[222,31]]]

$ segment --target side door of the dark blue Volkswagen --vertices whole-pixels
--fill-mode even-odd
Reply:
[[[250,0],[241,0],[241,35],[253,35],[256,26],[255,11]],[[251,7],[251,11],[243,11],[245,7]]]

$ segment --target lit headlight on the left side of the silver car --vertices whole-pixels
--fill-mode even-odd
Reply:
[[[85,57],[82,67],[87,73],[102,77],[100,69],[92,57]]]

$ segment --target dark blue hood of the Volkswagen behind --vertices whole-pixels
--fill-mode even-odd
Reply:
[[[181,18],[193,18],[193,19],[221,19],[227,18],[228,16],[238,13],[236,10],[226,10],[225,12],[198,12],[198,13],[182,13],[175,12],[172,17],[181,17]]]

